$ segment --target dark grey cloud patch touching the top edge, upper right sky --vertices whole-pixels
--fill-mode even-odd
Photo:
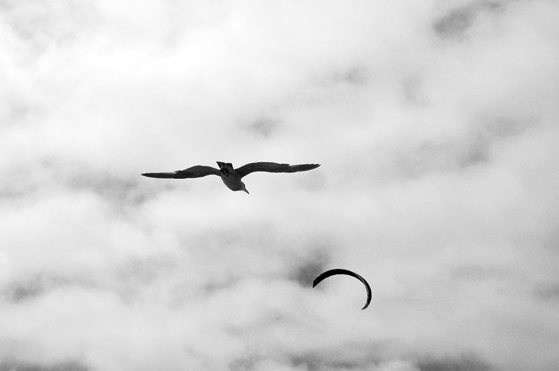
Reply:
[[[476,1],[449,10],[433,23],[433,29],[441,38],[463,38],[480,13],[494,13],[502,8],[502,4],[497,1]]]

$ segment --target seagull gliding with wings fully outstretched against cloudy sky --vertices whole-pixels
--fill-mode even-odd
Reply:
[[[303,165],[289,165],[289,163],[275,162],[252,162],[233,168],[232,163],[216,161],[219,169],[212,166],[196,165],[184,170],[177,170],[174,173],[143,173],[145,177],[159,177],[166,179],[186,179],[190,177],[205,177],[206,175],[218,175],[222,177],[223,182],[231,191],[247,191],[245,183],[241,182],[241,178],[254,173],[255,171],[266,171],[267,173],[297,173],[298,171],[307,171],[318,168],[319,163],[305,163]]]

